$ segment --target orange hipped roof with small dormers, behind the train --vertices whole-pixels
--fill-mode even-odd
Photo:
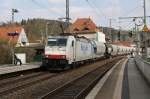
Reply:
[[[71,33],[96,32],[97,27],[90,18],[78,18],[66,31]]]

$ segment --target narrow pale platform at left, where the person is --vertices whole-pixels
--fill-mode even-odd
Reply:
[[[39,68],[41,63],[23,64],[23,65],[0,65],[0,75],[14,73],[18,71],[30,70]]]

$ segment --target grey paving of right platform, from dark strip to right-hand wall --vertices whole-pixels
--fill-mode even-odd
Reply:
[[[123,86],[126,87],[122,90],[122,99],[150,99],[149,84],[137,69],[134,59],[130,58],[126,66],[128,79],[124,80]]]

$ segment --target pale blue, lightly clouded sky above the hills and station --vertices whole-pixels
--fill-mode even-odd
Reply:
[[[19,10],[15,21],[28,18],[55,19],[65,17],[66,0],[0,0],[0,22],[11,21],[11,9]],[[143,0],[69,0],[71,22],[77,18],[91,18],[97,26],[132,29],[132,19],[118,17],[143,16]],[[150,0],[146,0],[147,15],[150,16]],[[120,22],[119,22],[120,21]],[[142,24],[137,19],[137,24]],[[147,18],[150,27],[150,18]]]

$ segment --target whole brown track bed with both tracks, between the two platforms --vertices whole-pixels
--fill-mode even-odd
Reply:
[[[67,92],[71,92],[66,92],[67,95],[72,95],[69,97],[69,99],[77,96],[83,97],[89,92],[92,86],[95,85],[97,80],[99,80],[114,64],[109,63],[118,61],[121,58],[123,57],[101,60],[91,65],[81,66],[79,68],[70,69],[59,73],[38,71],[27,75],[0,80],[0,98],[42,99],[49,95],[51,92],[54,92],[54,95],[52,95],[53,97],[50,95],[50,99],[66,99],[62,98],[63,93],[61,93],[63,91],[66,92],[66,90],[69,90]],[[105,65],[106,63],[108,64]],[[104,65],[107,68],[105,68]],[[57,91],[58,89],[60,91]],[[61,96],[60,94],[62,94],[61,98],[59,98],[59,96]]]

